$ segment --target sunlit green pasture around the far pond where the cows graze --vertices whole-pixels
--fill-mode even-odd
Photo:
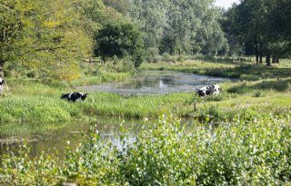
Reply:
[[[289,113],[291,103],[291,64],[272,67],[251,64],[186,62],[144,64],[142,69],[176,70],[187,73],[236,77],[237,82],[220,84],[224,92],[201,99],[195,93],[122,96],[114,93],[90,93],[82,103],[67,103],[59,97],[73,89],[65,83],[44,83],[33,79],[8,80],[10,90],[0,98],[2,122],[67,122],[96,115],[156,118],[160,113],[199,120],[230,121],[237,114],[252,116]],[[216,73],[216,74],[215,74]],[[105,73],[86,76],[74,85],[124,80],[129,73]],[[91,80],[93,81],[91,82]],[[72,85],[71,84],[71,85]],[[193,105],[196,103],[197,111]]]

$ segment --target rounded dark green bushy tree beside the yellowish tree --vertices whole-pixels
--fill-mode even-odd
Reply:
[[[144,42],[141,33],[125,20],[114,20],[95,35],[97,46],[95,54],[105,61],[108,57],[123,58],[130,56],[138,67],[144,60]]]

